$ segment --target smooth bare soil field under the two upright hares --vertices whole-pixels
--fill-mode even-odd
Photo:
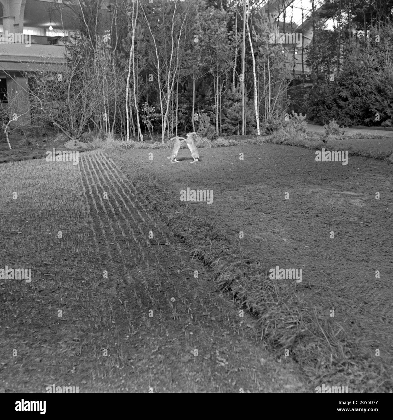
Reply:
[[[363,356],[379,349],[393,364],[393,165],[359,156],[348,165],[316,162],[313,150],[274,144],[200,150],[202,162],[193,164],[185,149],[176,164],[166,150],[154,150],[153,160],[148,152],[127,151],[177,197],[187,187],[212,190],[212,204],[190,202],[196,212],[233,241],[244,231],[240,243],[261,264],[302,268],[311,307],[322,318],[334,310]]]

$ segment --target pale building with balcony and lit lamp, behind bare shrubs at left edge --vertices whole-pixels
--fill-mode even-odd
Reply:
[[[29,123],[26,72],[64,63],[72,11],[63,0],[0,0],[0,101],[18,123]]]

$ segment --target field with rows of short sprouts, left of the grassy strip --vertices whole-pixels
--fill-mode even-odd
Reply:
[[[18,168],[2,176],[0,267],[32,281],[0,281],[1,392],[308,389],[106,155]]]

